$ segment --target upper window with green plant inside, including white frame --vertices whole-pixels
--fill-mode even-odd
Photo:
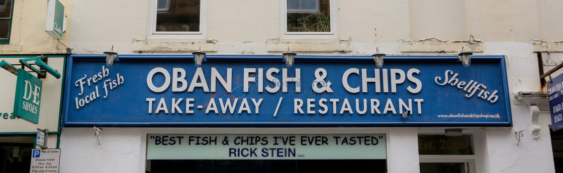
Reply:
[[[334,35],[337,30],[336,0],[282,0],[284,35]]]

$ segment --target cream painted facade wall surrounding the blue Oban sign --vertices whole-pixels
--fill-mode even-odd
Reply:
[[[111,45],[120,54],[189,54],[199,46],[208,54],[280,54],[288,46],[299,54],[372,54],[378,48],[387,54],[431,55],[458,53],[462,47],[475,54],[502,54],[513,94],[513,127],[463,128],[474,136],[476,154],[458,160],[472,162],[473,172],[555,172],[547,98],[519,93],[546,91],[540,67],[548,71],[563,61],[561,1],[338,1],[337,33],[288,37],[280,30],[282,1],[208,0],[203,1],[203,37],[181,39],[150,37],[149,2],[74,0],[65,39],[79,54],[101,54]],[[12,38],[15,44],[26,43]],[[49,40],[39,43],[55,47]],[[524,128],[516,145],[514,130]],[[151,133],[384,133],[388,172],[419,172],[419,163],[432,158],[418,155],[417,135],[443,134],[444,128],[104,128],[100,145],[92,128],[61,131],[61,172],[144,172],[146,135]]]

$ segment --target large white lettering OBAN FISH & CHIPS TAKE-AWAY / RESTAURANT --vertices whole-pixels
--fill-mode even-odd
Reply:
[[[294,69],[289,71],[288,69],[276,69],[270,68],[266,70],[266,80],[264,80],[264,70],[262,68],[244,68],[242,78],[242,85],[238,87],[243,88],[243,92],[249,92],[253,84],[257,83],[257,92],[263,92],[266,89],[267,92],[277,93],[278,95],[317,95],[319,93],[333,93],[331,84],[332,82],[328,80],[327,76],[329,73],[323,68],[315,70],[314,76],[315,80],[311,83],[312,92],[305,91],[301,92],[301,69]],[[198,67],[193,71],[193,75],[187,75],[185,69],[173,68],[172,75],[170,71],[164,69],[163,67],[155,67],[150,70],[147,78],[146,84],[148,88],[156,93],[161,93],[166,91],[168,88],[172,88],[171,92],[193,92],[195,88],[200,88],[203,92],[216,92],[217,91],[217,81],[221,83],[222,88],[225,89],[227,93],[231,93],[233,89],[233,72],[232,69],[226,69],[225,71],[218,71],[214,67],[211,67],[211,78],[205,76],[202,67]],[[280,75],[276,78],[274,75]],[[292,75],[290,75],[290,73]],[[368,72],[368,69],[348,69],[342,75],[342,87],[350,93],[359,93],[360,90],[364,93],[376,92],[376,93],[396,93],[397,85],[409,81],[409,85],[406,86],[406,90],[410,93],[419,93],[422,90],[422,83],[416,75],[420,73],[418,69],[409,69],[408,71],[403,71],[401,69],[374,69],[373,73]],[[356,83],[348,83],[348,78],[352,75],[361,75],[361,80],[355,81]],[[155,77],[158,76],[158,77]],[[279,80],[281,77],[282,80]],[[159,80],[155,80],[158,79]],[[191,82],[188,80],[191,78]],[[154,80],[154,81],[153,81]],[[155,83],[156,81],[156,83]],[[211,85],[208,85],[210,81]],[[157,84],[158,83],[158,84]],[[266,83],[266,86],[264,86]],[[288,90],[288,85],[293,83],[294,90]],[[369,83],[374,83],[375,88],[370,90],[368,88]],[[170,87],[172,85],[172,87]],[[358,87],[351,87],[351,85]],[[281,99],[280,99],[281,100]],[[205,110],[205,113],[222,113],[222,114],[234,114],[234,113],[258,113],[260,112],[260,105],[263,98],[210,98],[205,101],[204,104],[195,104],[197,98],[146,98],[148,104],[148,113],[194,113],[194,109]],[[252,101],[252,103],[251,103]],[[351,103],[352,102],[352,103]],[[296,98],[293,101],[294,113],[306,113],[315,114],[317,112],[321,114],[329,113],[329,108],[332,108],[333,114],[345,114],[345,113],[359,113],[364,115],[365,113],[372,114],[403,114],[405,112],[417,113],[422,115],[422,103],[424,99],[414,98],[414,99],[397,99],[391,100],[386,99],[380,101],[379,99],[300,99]],[[201,102],[200,102],[201,103]],[[355,107],[352,106],[355,103]],[[279,105],[278,105],[279,106]]]

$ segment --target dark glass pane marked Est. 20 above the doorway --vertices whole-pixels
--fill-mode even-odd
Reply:
[[[418,135],[418,154],[472,155],[471,135]]]

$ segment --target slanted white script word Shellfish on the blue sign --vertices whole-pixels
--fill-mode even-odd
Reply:
[[[450,77],[450,75],[452,75]],[[454,74],[454,72],[452,70],[446,70],[445,72],[445,76],[444,76],[444,80],[442,80],[442,78],[440,78],[440,76],[436,76],[436,78],[434,78],[434,81],[436,82],[436,84],[438,85],[446,85],[446,84],[450,84],[454,87],[457,87],[461,90],[466,91],[468,94],[465,94],[465,97],[472,97],[477,90],[481,90],[479,92],[479,94],[477,94],[478,98],[481,99],[486,99],[486,101],[489,101],[491,103],[497,102],[498,99],[498,95],[497,92],[498,90],[494,90],[494,92],[488,92],[485,91],[485,89],[487,89],[487,87],[484,84],[479,84],[477,81],[473,81],[470,80],[469,82],[466,83],[466,81],[460,81],[457,78],[458,74]],[[441,82],[440,82],[441,81]]]

